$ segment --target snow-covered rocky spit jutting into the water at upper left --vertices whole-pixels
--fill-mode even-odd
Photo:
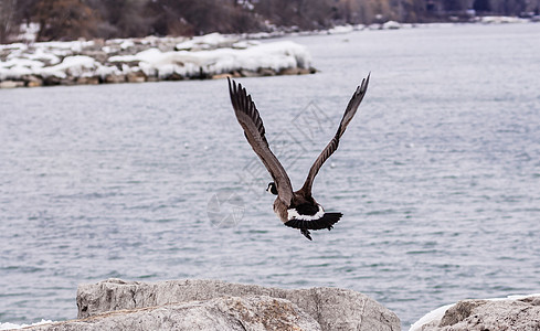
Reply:
[[[307,50],[218,33],[0,45],[0,88],[313,74]]]

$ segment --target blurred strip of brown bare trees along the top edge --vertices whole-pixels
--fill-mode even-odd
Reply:
[[[540,0],[0,0],[0,43],[22,23],[38,40],[194,35],[261,31],[267,22],[299,30],[333,24],[444,20],[473,6],[479,13],[539,11]]]

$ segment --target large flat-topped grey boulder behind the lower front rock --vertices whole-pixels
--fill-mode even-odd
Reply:
[[[317,320],[322,330],[401,330],[395,313],[352,290],[327,287],[288,290],[198,279],[159,282],[108,279],[81,285],[77,290],[78,318],[121,309],[246,296],[289,300]]]

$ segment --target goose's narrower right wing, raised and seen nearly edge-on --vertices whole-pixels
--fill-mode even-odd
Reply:
[[[339,138],[341,138],[341,136],[345,132],[345,129],[347,129],[347,126],[351,121],[352,117],[354,116],[354,114],[357,114],[358,106],[360,106],[360,103],[362,102],[363,96],[366,95],[366,90],[368,89],[368,84],[369,84],[369,77],[370,75],[363,78],[362,84],[357,87],[357,90],[352,95],[352,98],[350,99],[349,105],[345,110],[343,118],[341,118],[341,122],[339,124],[336,136],[333,136],[330,142],[328,142],[328,145],[319,154],[317,160],[315,160],[315,163],[311,166],[311,169],[309,169],[309,174],[307,175],[307,179],[304,182],[304,186],[301,186],[301,191],[306,195],[311,194],[311,185],[322,163],[325,163],[325,161],[338,149]]]

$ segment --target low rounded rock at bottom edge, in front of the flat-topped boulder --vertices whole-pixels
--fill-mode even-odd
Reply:
[[[317,321],[290,301],[266,296],[222,297],[135,310],[118,310],[84,320],[42,324],[34,331],[320,330]]]

